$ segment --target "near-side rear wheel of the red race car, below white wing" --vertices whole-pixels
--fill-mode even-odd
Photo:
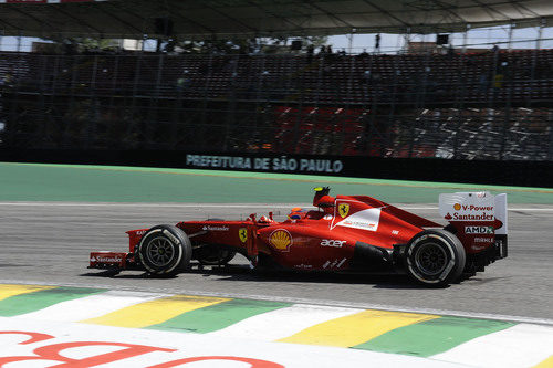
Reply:
[[[427,286],[444,287],[459,280],[467,255],[459,239],[446,230],[425,230],[407,245],[407,273]]]

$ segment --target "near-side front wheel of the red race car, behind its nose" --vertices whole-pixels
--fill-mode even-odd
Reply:
[[[173,276],[190,264],[192,245],[182,230],[163,224],[144,234],[136,252],[147,272],[158,276]]]

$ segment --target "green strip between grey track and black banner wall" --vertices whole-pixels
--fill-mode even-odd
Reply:
[[[453,191],[509,193],[510,203],[553,203],[553,189],[289,174],[0,162],[1,201],[310,202],[313,187],[387,202],[436,203]]]

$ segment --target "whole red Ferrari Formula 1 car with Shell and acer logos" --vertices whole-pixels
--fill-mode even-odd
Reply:
[[[175,275],[190,266],[225,265],[236,253],[253,267],[332,272],[406,272],[445,286],[507,256],[507,194],[440,194],[444,227],[365,196],[315,188],[316,210],[292,209],[274,221],[184,221],[127,231],[129,251],[92,252],[90,269]]]

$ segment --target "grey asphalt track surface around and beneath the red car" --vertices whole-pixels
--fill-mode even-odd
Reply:
[[[145,278],[140,272],[109,277],[87,270],[91,250],[127,249],[124,231],[180,220],[239,219],[290,206],[155,203],[0,203],[0,283],[81,285],[328,305],[503,315],[553,324],[553,207],[510,206],[510,254],[461,284],[424,288],[400,275],[252,274],[192,272]],[[439,221],[437,204],[406,209]],[[240,260],[237,260],[240,261]],[[242,261],[244,261],[242,259]]]

